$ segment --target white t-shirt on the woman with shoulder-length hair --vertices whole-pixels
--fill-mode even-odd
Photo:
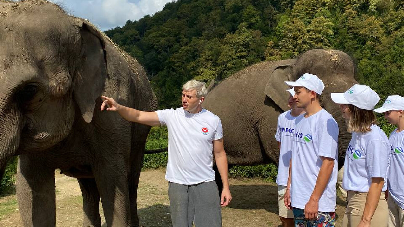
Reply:
[[[387,169],[390,159],[390,145],[386,134],[377,125],[370,126],[370,132],[352,132],[345,153],[342,187],[346,191],[368,192],[371,177],[383,177],[382,191],[387,190]]]

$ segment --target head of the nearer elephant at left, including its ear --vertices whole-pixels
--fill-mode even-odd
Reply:
[[[101,32],[45,1],[0,1],[0,169],[91,122],[107,79]],[[0,171],[2,172],[2,171]],[[2,177],[2,176],[0,176]]]

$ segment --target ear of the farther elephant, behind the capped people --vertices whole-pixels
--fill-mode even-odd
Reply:
[[[289,87],[285,84],[285,81],[291,80],[291,71],[291,64],[278,65],[269,76],[264,91],[265,95],[271,98],[284,111],[290,109],[288,107],[289,93],[286,91]]]

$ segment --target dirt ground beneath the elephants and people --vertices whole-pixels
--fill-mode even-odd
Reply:
[[[146,170],[140,175],[138,213],[143,227],[170,227],[168,183],[165,169]],[[74,178],[55,172],[56,226],[81,227],[83,220],[80,188]],[[276,184],[253,179],[230,179],[231,204],[222,209],[223,227],[278,227]],[[0,198],[0,227],[21,227],[15,195]],[[11,205],[10,205],[11,204]],[[342,225],[345,201],[337,198],[337,225]],[[10,207],[11,206],[11,207]],[[100,210],[104,222],[102,208]],[[2,215],[1,215],[2,214]]]

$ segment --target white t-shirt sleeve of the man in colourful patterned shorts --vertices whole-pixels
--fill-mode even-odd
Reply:
[[[339,128],[337,122],[329,118],[318,126],[318,154],[326,158],[337,158],[338,153],[338,133]]]

